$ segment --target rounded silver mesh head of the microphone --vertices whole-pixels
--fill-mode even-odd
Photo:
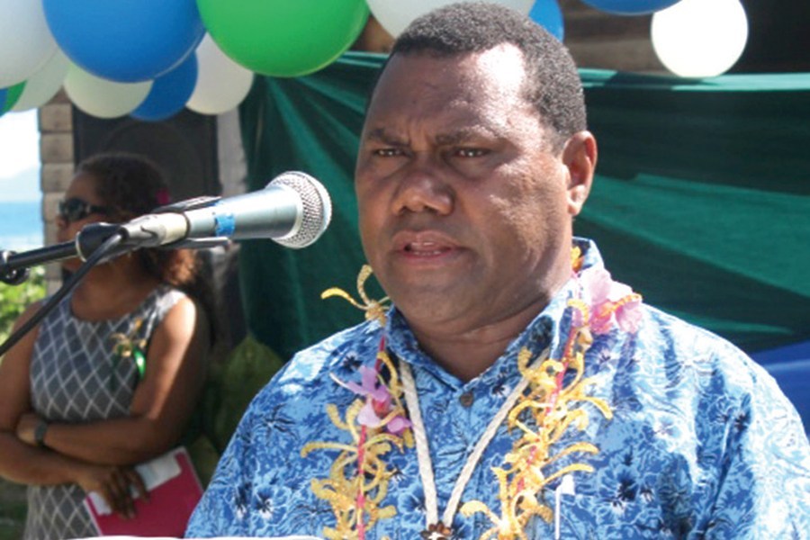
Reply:
[[[270,184],[292,189],[301,198],[301,220],[284,237],[273,238],[286,247],[299,249],[310,246],[329,227],[332,219],[332,200],[323,184],[311,175],[289,171],[276,176]]]

